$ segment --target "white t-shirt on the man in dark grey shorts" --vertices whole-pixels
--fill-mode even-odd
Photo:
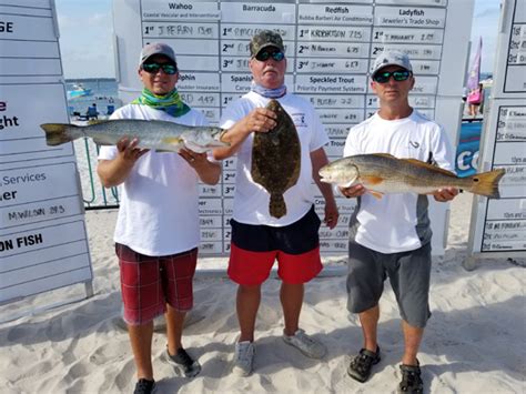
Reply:
[[[446,132],[416,110],[405,119],[384,120],[377,113],[348,132],[343,155],[391,153],[399,159],[429,158],[454,171],[454,150]],[[431,241],[427,196],[415,193],[384,194],[381,200],[365,193],[351,218],[351,239],[381,253],[418,249]]]

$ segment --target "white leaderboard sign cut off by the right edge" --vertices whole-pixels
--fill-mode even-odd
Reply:
[[[526,0],[504,4],[481,170],[506,174],[499,200],[475,199],[466,269],[478,256],[526,257]]]

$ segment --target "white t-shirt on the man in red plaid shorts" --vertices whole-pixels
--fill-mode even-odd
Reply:
[[[205,117],[191,110],[180,118],[148,105],[128,104],[111,119],[163,120],[206,125]],[[99,160],[113,160],[115,147],[102,147]],[[135,252],[162,256],[199,245],[198,174],[174,152],[150,151],[133,165],[119,185],[120,209],[114,241]]]

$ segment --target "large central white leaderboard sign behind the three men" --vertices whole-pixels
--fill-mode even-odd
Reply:
[[[286,47],[289,91],[317,109],[331,138],[330,160],[343,153],[348,128],[377,108],[371,92],[372,60],[385,49],[409,54],[416,74],[414,108],[437,120],[457,140],[473,0],[354,1],[114,1],[119,90],[124,102],[141,90],[141,47],[163,41],[178,54],[179,90],[211,123],[249,91],[249,41],[262,29],[279,31]],[[466,22],[467,21],[467,22]],[[202,253],[230,247],[235,158],[223,162],[222,182],[201,188]],[[320,193],[318,193],[320,194]],[[323,212],[321,194],[316,211]],[[354,202],[338,198],[338,226],[322,226],[324,253],[346,253]],[[446,205],[432,205],[434,252],[443,253]]]

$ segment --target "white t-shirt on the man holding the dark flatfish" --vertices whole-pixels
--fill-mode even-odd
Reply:
[[[223,112],[221,127],[231,128],[252,110],[265,107],[270,99],[255,92],[249,92],[232,102]],[[301,172],[297,183],[284,193],[286,214],[280,219],[269,213],[269,192],[252,180],[252,142],[251,133],[237,151],[235,173],[235,195],[233,218],[240,223],[284,226],[296,222],[305,215],[314,202],[315,185],[312,178],[311,152],[328,143],[327,134],[312,104],[294,94],[277,99],[283,109],[294,121],[301,143]],[[286,158],[283,158],[286,160]]]

